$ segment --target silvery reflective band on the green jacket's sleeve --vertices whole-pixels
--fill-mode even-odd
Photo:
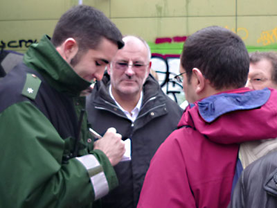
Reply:
[[[102,198],[109,193],[109,184],[103,171],[102,166],[94,155],[84,155],[82,157],[75,157],[78,159],[89,173],[91,184],[94,190],[95,200]]]

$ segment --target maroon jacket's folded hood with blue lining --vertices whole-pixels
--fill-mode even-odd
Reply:
[[[260,101],[251,100],[252,96]],[[273,89],[222,92],[194,103],[193,107],[188,106],[178,128],[188,125],[220,144],[275,138],[276,98]]]

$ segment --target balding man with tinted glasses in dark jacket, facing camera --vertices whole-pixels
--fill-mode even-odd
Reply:
[[[145,173],[157,148],[177,128],[182,110],[150,75],[151,52],[140,37],[125,36],[101,82],[87,98],[92,128],[114,127],[129,146],[115,171],[119,187],[102,199],[103,207],[136,207]],[[97,144],[97,141],[96,141]],[[112,148],[112,147],[111,147]]]

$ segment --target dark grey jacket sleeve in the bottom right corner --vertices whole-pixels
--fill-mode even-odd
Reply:
[[[277,207],[277,152],[261,157],[244,169],[229,207]]]

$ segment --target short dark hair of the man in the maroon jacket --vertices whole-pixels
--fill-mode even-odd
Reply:
[[[190,35],[181,54],[188,83],[199,69],[215,89],[240,88],[247,83],[249,53],[242,39],[220,26],[209,26]]]

